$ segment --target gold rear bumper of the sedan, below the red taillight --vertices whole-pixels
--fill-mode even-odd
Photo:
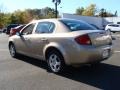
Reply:
[[[85,47],[77,49],[77,52],[69,56],[70,64],[85,64],[108,59],[113,53],[112,46]]]

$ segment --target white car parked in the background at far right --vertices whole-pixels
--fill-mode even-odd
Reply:
[[[109,31],[111,31],[113,33],[120,32],[120,24],[108,24],[105,27],[105,30],[109,30]]]

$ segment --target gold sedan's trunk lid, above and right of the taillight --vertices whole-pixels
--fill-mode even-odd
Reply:
[[[112,44],[111,35],[105,30],[80,30],[80,31],[74,31],[72,32],[72,34],[77,35],[77,37],[82,35],[88,35],[92,45],[94,46],[103,46],[103,45]]]

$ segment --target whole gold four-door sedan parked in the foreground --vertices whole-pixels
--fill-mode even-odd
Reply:
[[[100,62],[112,55],[112,39],[105,30],[72,19],[43,19],[27,24],[9,38],[12,57],[24,54],[48,63],[54,73],[65,65]]]

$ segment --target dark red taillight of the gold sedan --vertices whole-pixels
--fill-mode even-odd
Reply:
[[[81,45],[92,45],[91,40],[90,40],[88,34],[76,37],[75,41],[78,44],[81,44]]]

